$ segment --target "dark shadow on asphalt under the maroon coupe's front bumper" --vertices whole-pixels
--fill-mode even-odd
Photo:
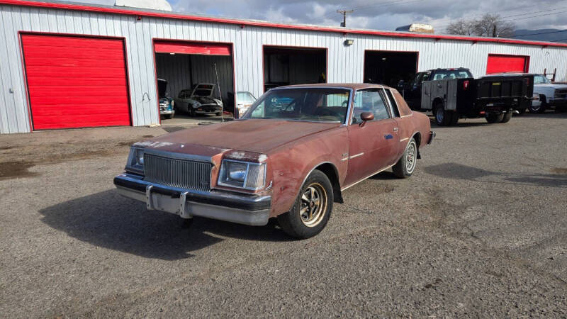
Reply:
[[[252,227],[194,218],[187,228],[179,216],[147,211],[145,203],[122,197],[114,190],[59,203],[40,213],[50,227],[91,245],[165,260],[191,257],[191,252],[214,245],[222,237],[290,240],[274,223]]]

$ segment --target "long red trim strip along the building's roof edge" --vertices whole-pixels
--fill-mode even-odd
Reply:
[[[567,47],[567,43],[517,40],[517,39],[508,39],[508,38],[487,38],[487,37],[473,37],[473,36],[463,36],[463,35],[410,33],[410,32],[398,32],[398,31],[381,31],[381,30],[337,28],[337,27],[314,26],[314,25],[273,23],[268,21],[246,20],[246,19],[235,19],[235,18],[218,18],[218,17],[210,17],[210,16],[198,16],[198,15],[186,14],[186,13],[174,13],[169,11],[124,8],[118,6],[103,6],[97,4],[81,4],[76,2],[58,2],[58,1],[45,1],[45,0],[44,1],[0,0],[0,4],[8,4],[14,6],[32,6],[36,8],[47,8],[47,9],[65,9],[65,10],[74,10],[74,11],[111,13],[111,14],[120,14],[120,15],[128,15],[128,16],[171,18],[177,20],[202,21],[202,22],[211,22],[211,23],[226,23],[226,24],[238,25],[241,26],[242,28],[245,28],[246,26],[259,26],[264,28],[283,28],[289,30],[310,30],[310,31],[327,32],[327,33],[342,33],[344,35],[349,35],[349,34],[374,35],[374,36],[383,36],[389,38],[425,38],[436,41],[454,40],[454,41],[466,41],[472,43],[482,42],[482,43],[501,43],[501,44],[512,44],[512,45],[534,45],[541,47]]]

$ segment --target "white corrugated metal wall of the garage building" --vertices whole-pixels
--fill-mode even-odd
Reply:
[[[489,53],[530,56],[530,72],[557,68],[558,80],[567,77],[567,49],[465,41],[386,38],[368,35],[284,30],[198,21],[179,21],[91,13],[28,6],[0,6],[0,133],[29,132],[29,115],[18,31],[71,33],[125,38],[134,125],[159,123],[152,38],[234,44],[237,91],[262,94],[262,45],[326,47],[327,82],[361,82],[364,50],[418,51],[419,70],[468,67],[485,74]],[[147,99],[150,96],[151,99]]]

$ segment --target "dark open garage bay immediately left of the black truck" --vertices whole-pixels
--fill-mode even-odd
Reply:
[[[364,52],[364,82],[396,87],[400,80],[408,82],[417,72],[418,52]]]

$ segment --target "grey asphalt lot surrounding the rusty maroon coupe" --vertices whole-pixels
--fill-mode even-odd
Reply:
[[[353,186],[301,241],[116,194],[128,145],[193,123],[0,135],[0,313],[565,317],[566,123],[433,125],[414,176]]]

